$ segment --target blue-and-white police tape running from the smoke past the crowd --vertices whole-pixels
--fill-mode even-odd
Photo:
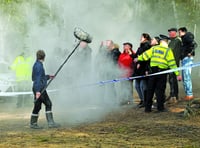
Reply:
[[[189,65],[184,66],[184,67],[178,67],[178,68],[175,68],[175,69],[169,69],[169,70],[165,70],[165,71],[153,73],[153,74],[142,75],[142,76],[135,76],[135,77],[127,77],[127,78],[117,78],[117,79],[105,80],[105,81],[99,81],[97,83],[91,83],[91,84],[86,84],[86,85],[82,85],[82,86],[104,85],[104,84],[116,83],[116,82],[120,82],[120,81],[134,80],[134,79],[138,79],[138,78],[144,78],[144,77],[150,77],[150,76],[155,76],[155,75],[160,75],[160,74],[172,73],[172,72],[175,72],[175,71],[182,71],[182,70],[185,70],[185,69],[191,69],[193,67],[198,67],[198,66],[200,66],[200,62],[197,62],[197,63],[194,63],[194,64],[189,64]]]

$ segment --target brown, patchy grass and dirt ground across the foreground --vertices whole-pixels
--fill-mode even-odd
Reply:
[[[41,115],[41,130],[30,129],[31,107],[1,109],[0,147],[200,147],[200,116],[183,118],[185,102],[167,106],[168,112],[144,113],[133,106],[110,112],[101,121],[48,129]],[[62,120],[58,120],[62,121]]]

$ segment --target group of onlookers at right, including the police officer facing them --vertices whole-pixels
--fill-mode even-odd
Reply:
[[[118,98],[121,99],[121,105],[133,102],[133,86],[135,86],[140,99],[137,106],[144,107],[145,112],[152,111],[153,99],[156,99],[157,111],[163,112],[166,111],[165,102],[176,103],[180,99],[189,101],[194,98],[191,68],[183,69],[182,74],[181,71],[176,70],[179,66],[185,67],[193,63],[197,46],[194,35],[188,32],[186,27],[170,28],[167,31],[168,36],[160,34],[153,38],[148,33],[142,33],[140,45],[136,51],[133,50],[133,45],[130,42],[123,43],[122,52],[120,52],[119,46],[114,46],[115,43],[112,40],[106,40],[102,43],[98,56],[104,55],[106,65],[114,64],[112,69],[119,70],[119,77],[130,78],[120,82],[119,93],[121,95],[118,95]],[[105,72],[105,65],[102,65]],[[165,71],[169,69],[172,72],[166,73]],[[104,76],[101,79],[117,77],[116,75],[108,77],[107,74]],[[179,96],[178,81],[181,80],[183,80],[185,91],[184,98]],[[134,85],[133,82],[135,82]],[[170,86],[169,95],[165,91],[167,82]],[[116,94],[114,87],[112,91]]]

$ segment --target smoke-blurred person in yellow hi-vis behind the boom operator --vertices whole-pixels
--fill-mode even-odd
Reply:
[[[31,91],[31,75],[33,58],[29,56],[29,51],[22,52],[15,58],[11,65],[11,69],[15,71],[16,87],[15,90],[18,92]],[[22,107],[24,104],[24,95],[19,95],[17,98],[17,108]]]

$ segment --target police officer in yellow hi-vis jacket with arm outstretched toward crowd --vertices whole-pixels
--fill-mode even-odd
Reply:
[[[142,55],[138,56],[134,61],[147,61],[150,59],[150,67],[152,73],[162,72],[167,69],[177,68],[171,48],[168,47],[169,38],[165,35],[160,35],[160,44],[151,47]],[[174,72],[178,80],[181,80],[179,72]],[[157,99],[158,112],[166,111],[164,108],[165,89],[167,82],[167,74],[154,75],[149,77],[147,89],[147,101],[145,102],[145,112],[151,112],[152,99],[154,92]]]

